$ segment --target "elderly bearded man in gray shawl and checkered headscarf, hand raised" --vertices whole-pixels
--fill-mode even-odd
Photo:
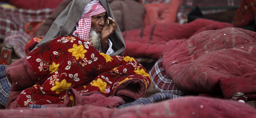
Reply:
[[[122,33],[119,27],[114,20],[114,15],[110,9],[109,3],[107,0],[100,0],[102,5],[98,5],[97,1],[92,0],[73,0],[67,8],[56,18],[53,22],[51,28],[46,33],[45,37],[39,44],[36,45],[36,48],[42,46],[43,44],[53,40],[58,36],[67,36],[67,35],[75,35],[80,39],[88,39],[88,33],[90,32],[90,27],[93,30],[97,30],[96,33],[100,33],[100,42],[101,42],[101,51],[104,53],[112,55],[123,55],[125,44]],[[92,16],[92,13],[98,12],[95,7],[103,6],[104,9],[98,10],[100,14],[93,14],[96,16]],[[83,9],[84,8],[84,9]],[[91,14],[90,14],[91,13]],[[98,19],[101,16],[102,19]],[[109,16],[110,18],[108,18]],[[110,25],[108,25],[108,19]],[[87,20],[91,20],[91,23],[85,23]],[[79,25],[80,24],[80,25]],[[92,25],[92,26],[91,26]],[[81,32],[81,29],[86,29],[85,33]],[[112,35],[113,34],[113,35]],[[109,38],[109,40],[107,40]],[[88,41],[90,41],[89,39]],[[111,45],[111,42],[113,45]],[[92,41],[92,43],[96,43],[96,41]],[[99,44],[99,43],[98,43]],[[95,44],[99,47],[98,44]],[[113,52],[113,53],[112,53]],[[108,54],[107,53],[107,54]]]

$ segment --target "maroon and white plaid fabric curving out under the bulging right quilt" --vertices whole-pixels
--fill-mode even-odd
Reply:
[[[149,76],[156,90],[182,96],[187,95],[187,93],[175,85],[172,78],[166,74],[162,57],[158,59],[154,67],[149,71]]]

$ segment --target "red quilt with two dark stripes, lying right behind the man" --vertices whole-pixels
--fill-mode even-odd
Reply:
[[[200,18],[185,25],[164,23],[124,31],[122,32],[126,45],[124,55],[158,59],[168,41],[188,39],[205,30],[217,30],[225,27],[233,26],[224,22]]]

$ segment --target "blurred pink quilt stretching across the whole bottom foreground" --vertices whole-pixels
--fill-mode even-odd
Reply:
[[[4,118],[255,118],[256,110],[237,101],[182,97],[125,108],[92,105],[75,107],[0,110]]]

